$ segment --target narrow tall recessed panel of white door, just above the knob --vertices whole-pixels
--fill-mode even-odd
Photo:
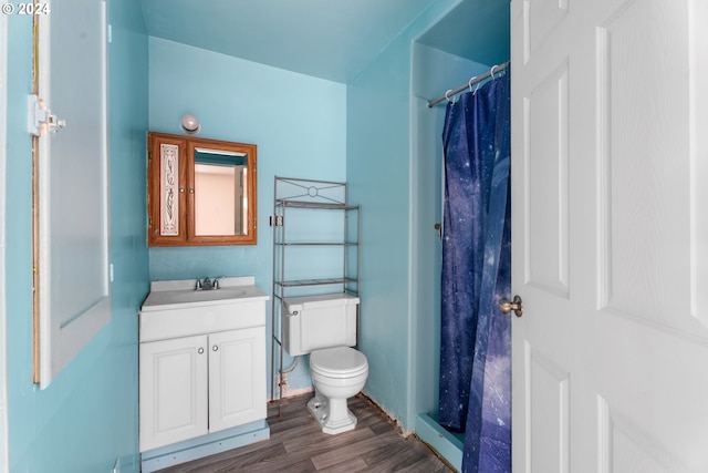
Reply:
[[[569,296],[568,62],[524,100],[527,282]],[[533,205],[533,203],[543,205]]]

